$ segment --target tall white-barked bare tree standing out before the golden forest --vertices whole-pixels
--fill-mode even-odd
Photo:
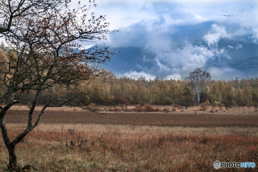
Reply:
[[[193,89],[197,94],[198,105],[199,105],[201,89],[203,87],[203,84],[206,81],[211,80],[211,75],[206,71],[201,71],[201,69],[196,68],[195,71],[189,73],[189,76],[186,78],[186,80],[190,81],[191,84],[193,85]]]

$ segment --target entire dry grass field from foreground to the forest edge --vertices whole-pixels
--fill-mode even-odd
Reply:
[[[197,110],[95,114],[77,108],[48,109],[16,146],[18,165],[29,163],[35,171],[256,171],[216,170],[213,162],[258,165],[258,112]],[[8,111],[11,138],[26,127],[27,113],[26,107],[18,106]],[[0,154],[0,171],[7,171],[2,137]]]

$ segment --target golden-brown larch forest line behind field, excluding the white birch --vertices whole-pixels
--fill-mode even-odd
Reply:
[[[3,84],[4,71],[9,70],[9,57],[15,56],[11,50],[4,48],[2,43],[0,52],[1,77],[0,95],[6,91]],[[14,62],[13,62],[14,63]],[[6,63],[7,64],[7,63]],[[93,73],[92,79],[87,83],[80,83],[67,88],[64,85],[55,85],[42,91],[38,104],[44,104],[49,99],[69,99],[75,94],[87,92],[95,98],[95,104],[113,105],[125,104],[151,104],[151,105],[179,105],[181,108],[190,107],[196,104],[197,96],[190,81],[164,79],[157,76],[154,79],[147,79],[140,76],[137,80],[124,75],[117,77],[112,71],[104,68]],[[27,92],[20,103],[30,105],[33,101],[34,91]],[[80,96],[81,98],[81,96]],[[78,99],[75,101],[79,102]],[[87,97],[85,98],[87,100]],[[201,88],[200,103],[208,102],[210,105],[226,106],[257,106],[258,101],[258,78],[248,78],[239,80],[237,77],[231,80],[211,80],[205,82]],[[2,102],[4,103],[4,102]],[[227,107],[226,107],[227,108]]]

